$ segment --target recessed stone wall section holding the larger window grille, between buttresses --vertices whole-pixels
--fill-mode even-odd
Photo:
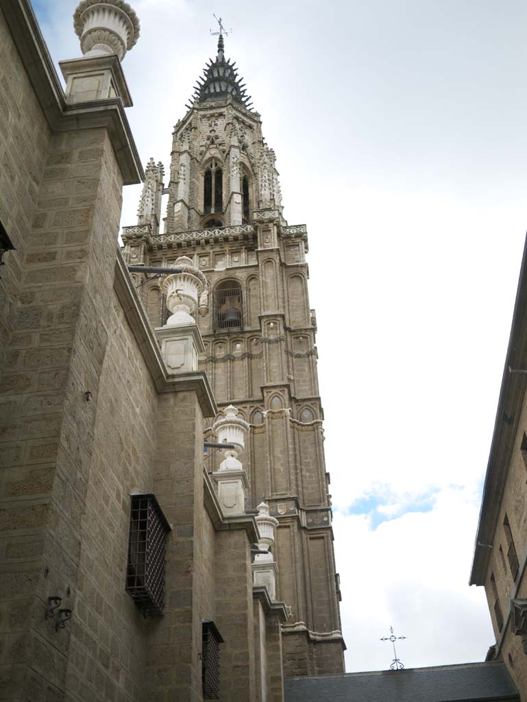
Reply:
[[[157,392],[114,295],[81,519],[71,653],[72,697],[139,700],[149,625],[125,592],[130,494],[152,492]]]

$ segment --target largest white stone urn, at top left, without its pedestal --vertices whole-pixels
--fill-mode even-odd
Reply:
[[[116,54],[123,60],[139,38],[139,19],[124,0],[81,0],[73,26],[85,56]]]

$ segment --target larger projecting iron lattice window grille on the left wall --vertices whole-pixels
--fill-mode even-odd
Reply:
[[[168,531],[171,527],[154,495],[132,495],[126,592],[145,617],[163,615]]]

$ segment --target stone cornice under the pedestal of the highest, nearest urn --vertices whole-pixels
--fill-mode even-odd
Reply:
[[[121,99],[67,105],[29,0],[3,2],[2,12],[51,130],[107,128],[124,185],[140,183],[144,173]]]

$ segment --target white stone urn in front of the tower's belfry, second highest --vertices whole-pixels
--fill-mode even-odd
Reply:
[[[196,311],[199,297],[206,289],[207,279],[187,256],[177,258],[174,265],[181,268],[182,272],[169,275],[163,283],[166,306],[172,312],[166,326],[196,324],[191,315]]]

